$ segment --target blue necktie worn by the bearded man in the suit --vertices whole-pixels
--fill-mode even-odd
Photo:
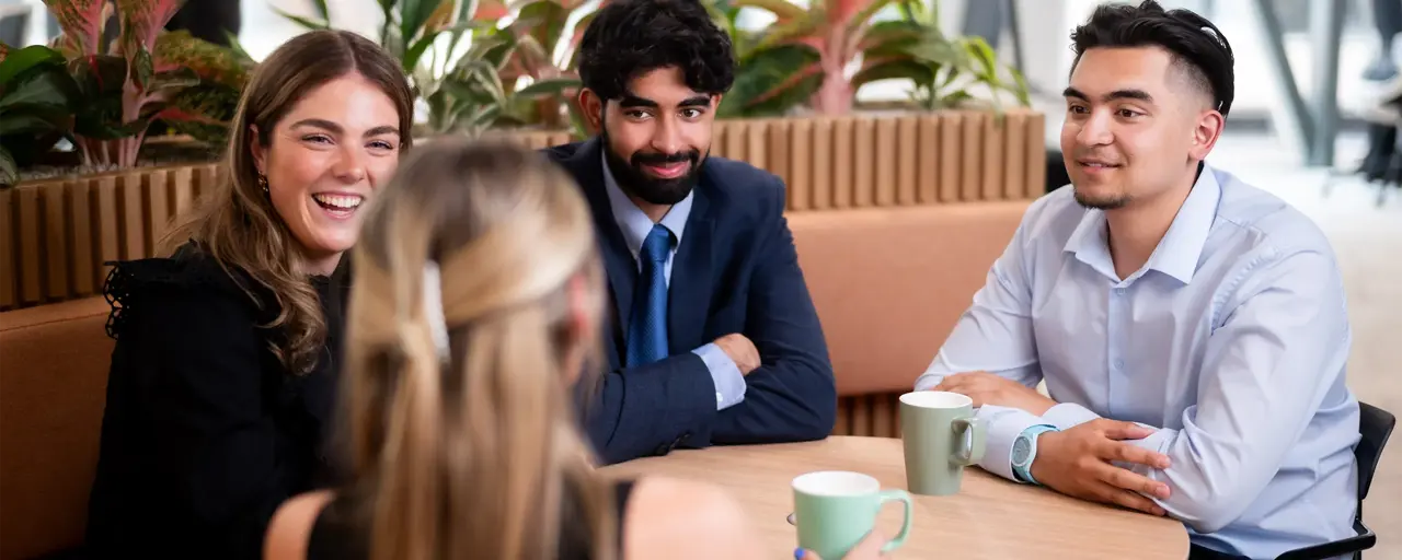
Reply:
[[[642,270],[632,290],[632,316],[628,318],[628,365],[646,365],[667,357],[667,256],[672,232],[653,225],[642,241],[638,262]]]

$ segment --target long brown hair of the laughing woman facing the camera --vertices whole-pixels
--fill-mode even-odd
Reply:
[[[264,148],[292,108],[317,87],[359,73],[394,102],[400,113],[404,147],[412,141],[414,95],[400,70],[379,45],[348,31],[311,31],[287,41],[254,71],[229,126],[229,147],[222,165],[224,179],[161,238],[160,251],[171,253],[193,241],[226,272],[241,270],[273,294],[279,315],[268,328],[285,336],[272,347],[293,374],[310,372],[327,337],[317,291],[300,270],[297,242],[258,183],[252,141]],[[257,126],[258,137],[252,137]],[[248,287],[245,286],[245,290]]]

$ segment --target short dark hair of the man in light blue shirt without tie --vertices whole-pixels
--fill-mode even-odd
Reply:
[[[1234,57],[1227,36],[1207,18],[1189,10],[1165,11],[1154,0],[1138,6],[1102,4],[1085,25],[1071,32],[1075,62],[1087,49],[1159,46],[1173,55],[1195,87],[1210,95],[1227,116],[1235,95]],[[1071,66],[1075,69],[1075,64]]]

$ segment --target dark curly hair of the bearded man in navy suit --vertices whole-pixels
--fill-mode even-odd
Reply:
[[[735,83],[730,36],[698,0],[610,1],[579,43],[579,78],[601,99],[622,98],[628,81],[667,66],[701,94],[723,94]]]

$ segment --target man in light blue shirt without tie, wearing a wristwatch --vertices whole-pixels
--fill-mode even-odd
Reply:
[[[1144,1],[1073,41],[1071,186],[1028,209],[916,389],[974,400],[983,468],[1180,519],[1193,559],[1352,536],[1343,284],[1308,218],[1204,164],[1227,38]]]

